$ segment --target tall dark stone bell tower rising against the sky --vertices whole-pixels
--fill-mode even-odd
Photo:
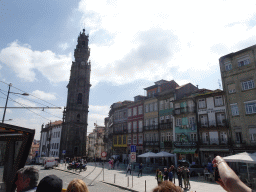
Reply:
[[[89,35],[85,29],[80,32],[74,50],[70,79],[67,85],[67,105],[63,112],[60,158],[86,156],[86,136],[89,108],[91,63],[88,61],[90,48]]]

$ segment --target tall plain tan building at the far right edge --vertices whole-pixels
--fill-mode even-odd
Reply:
[[[233,153],[255,152],[256,147],[256,45],[219,59]]]

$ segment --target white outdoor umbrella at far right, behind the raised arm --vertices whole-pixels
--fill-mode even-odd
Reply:
[[[238,153],[236,155],[230,155],[230,156],[224,157],[223,159],[227,162],[246,163],[247,172],[248,172],[248,180],[250,180],[248,164],[249,163],[256,164],[256,155],[255,155],[255,153],[243,152],[243,153]]]

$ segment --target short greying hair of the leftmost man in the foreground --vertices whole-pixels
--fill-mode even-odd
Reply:
[[[30,179],[29,186],[27,189],[32,189],[37,186],[39,179],[39,171],[34,166],[21,168],[17,171],[17,174],[22,175],[25,179]]]

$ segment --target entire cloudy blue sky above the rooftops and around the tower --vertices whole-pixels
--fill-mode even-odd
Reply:
[[[219,58],[256,44],[255,1],[1,0],[0,115],[36,130],[62,119],[77,37],[89,34],[88,133],[110,105],[175,80],[222,88]],[[28,93],[23,96],[15,93]],[[13,109],[8,107],[61,107]]]

